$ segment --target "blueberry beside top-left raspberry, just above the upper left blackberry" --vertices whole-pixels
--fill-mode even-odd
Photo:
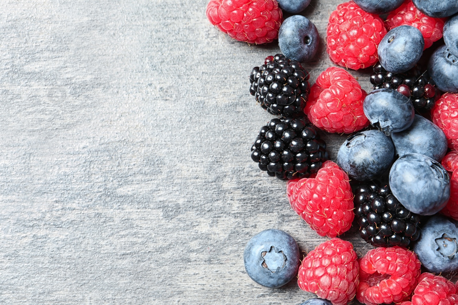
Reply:
[[[304,16],[294,15],[283,21],[278,31],[278,45],[289,59],[311,60],[318,50],[318,31]]]

